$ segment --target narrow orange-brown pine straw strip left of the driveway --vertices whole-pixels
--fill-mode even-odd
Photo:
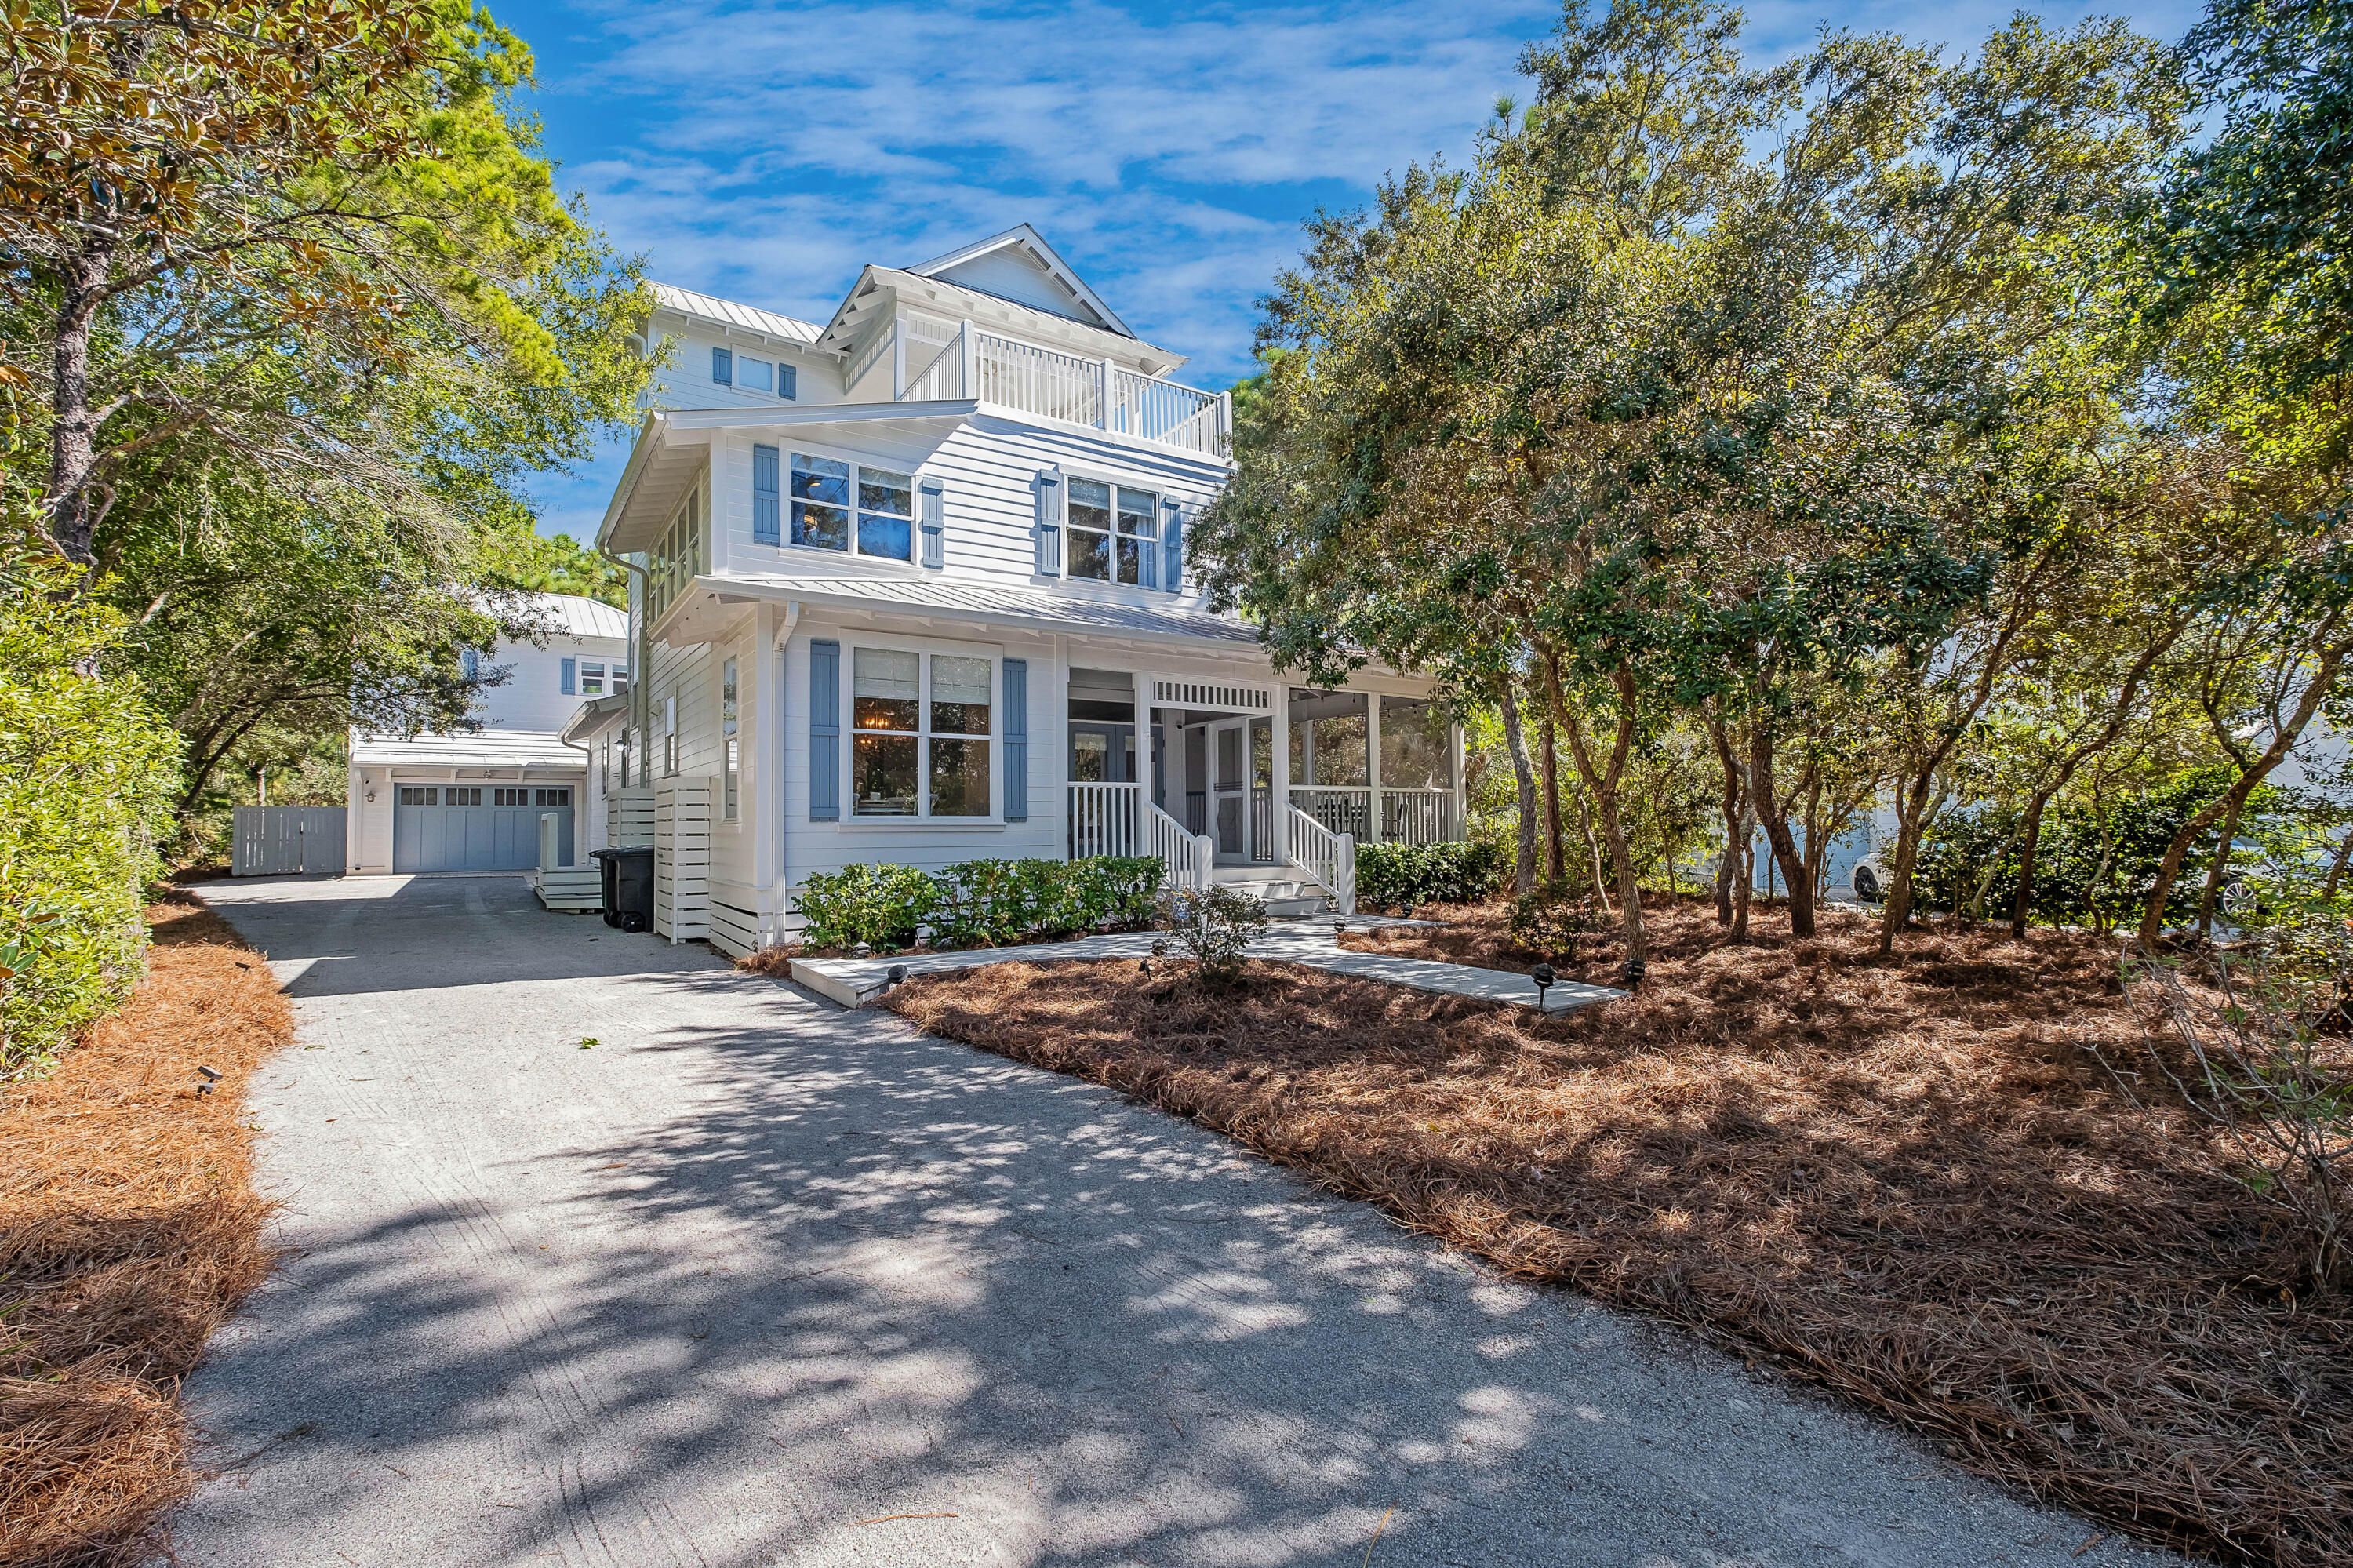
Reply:
[[[122,1012],[0,1088],[0,1568],[144,1554],[198,1481],[179,1380],[271,1264],[245,1083],[292,1010],[193,895],[148,923]]]

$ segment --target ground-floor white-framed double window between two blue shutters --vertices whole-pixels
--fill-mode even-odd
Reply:
[[[988,817],[995,659],[849,650],[849,815]]]

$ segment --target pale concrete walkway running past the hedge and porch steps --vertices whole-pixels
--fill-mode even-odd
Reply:
[[[1348,916],[1351,930],[1377,925],[1428,925],[1428,921],[1398,921],[1393,916]],[[842,1008],[864,1008],[889,986],[889,972],[906,968],[913,975],[951,975],[955,970],[979,970],[991,963],[1066,963],[1073,958],[1144,958],[1153,942],[1167,942],[1165,932],[1132,930],[1108,937],[1078,937],[1073,942],[1031,942],[1026,946],[976,946],[955,954],[901,954],[896,958],[795,958],[793,979]],[[1405,958],[1391,954],[1358,954],[1339,944],[1329,916],[1306,921],[1273,921],[1266,935],[1249,944],[1252,958],[1275,963],[1301,963],[1311,970],[1334,975],[1358,975],[1384,979],[1409,991],[1438,996],[1471,996],[1475,1001],[1511,1003],[1513,1008],[1541,1008],[1567,1012],[1586,1003],[1626,996],[1609,986],[1588,986],[1577,979],[1555,979],[1548,991],[1539,991],[1527,975],[1511,970],[1478,970],[1468,963],[1438,963],[1431,958]]]

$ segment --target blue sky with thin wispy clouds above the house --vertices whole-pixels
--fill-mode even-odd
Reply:
[[[824,320],[859,266],[1035,224],[1179,372],[1249,367],[1254,301],[1315,207],[1461,160],[1558,0],[1374,5],[911,5],[492,0],[539,57],[525,97],[593,221],[647,271]],[[1746,47],[1821,26],[1965,49],[2017,5],[1769,0]],[[2122,7],[2035,5],[2052,21]],[[2125,14],[2160,38],[2184,0]],[[544,532],[588,539],[624,447],[534,483]]]

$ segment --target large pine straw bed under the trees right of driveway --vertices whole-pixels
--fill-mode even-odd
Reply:
[[[1501,911],[1351,946],[1501,963]],[[1960,1464],[2231,1561],[2353,1561],[2353,1304],[2087,1045],[2106,942],[1652,916],[1574,1015],[1252,963],[920,975],[922,1029],[1120,1088],[1504,1269],[1694,1326]],[[1612,982],[1614,944],[1569,975]]]

